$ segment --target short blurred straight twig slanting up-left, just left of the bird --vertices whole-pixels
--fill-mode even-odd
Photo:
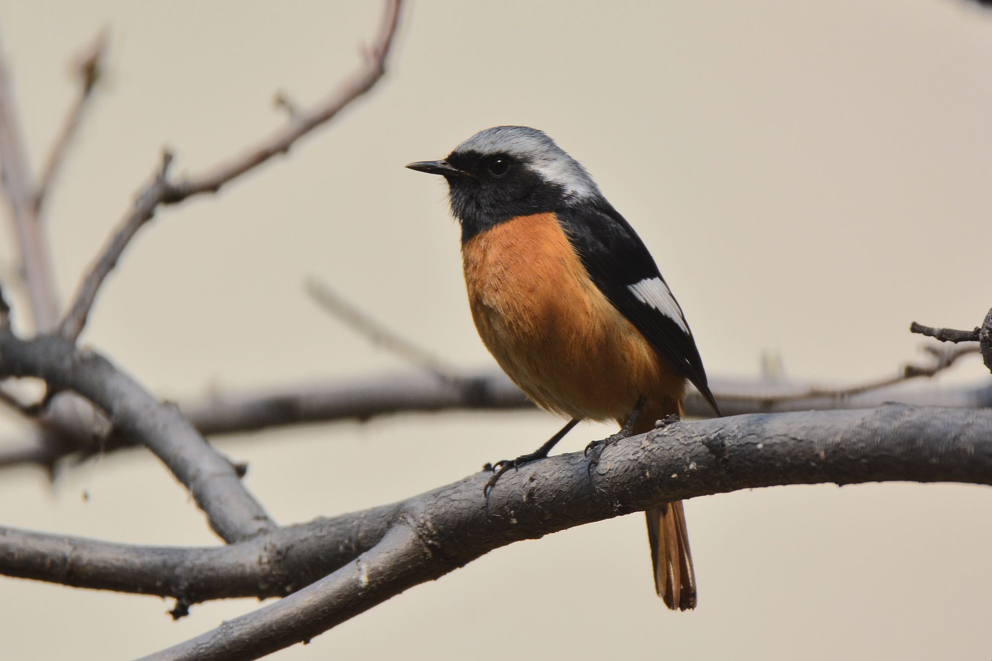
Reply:
[[[376,322],[357,307],[345,301],[327,285],[310,278],[307,280],[306,290],[310,298],[321,308],[343,322],[352,331],[366,337],[376,346],[381,346],[412,365],[422,367],[445,381],[453,382],[459,378],[457,370],[453,367],[444,364],[430,351],[417,346]]]

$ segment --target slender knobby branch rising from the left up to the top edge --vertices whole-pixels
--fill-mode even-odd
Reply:
[[[135,200],[120,228],[103,249],[83,279],[68,313],[62,319],[59,332],[75,339],[82,332],[104,279],[116,266],[128,243],[148,222],[160,204],[178,204],[192,196],[216,193],[228,182],[265,163],[277,154],[286,154],[290,147],[314,128],[332,119],[352,101],[370,90],[386,72],[386,58],[393,45],[399,25],[401,0],[387,0],[383,23],[375,42],[359,70],[346,79],[326,100],[308,112],[301,112],[283,129],[276,131],[254,148],[201,175],[171,183],[167,179],[170,156],[167,155],[160,176]]]

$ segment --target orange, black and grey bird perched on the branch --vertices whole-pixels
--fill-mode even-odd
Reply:
[[[546,133],[495,126],[442,160],[406,167],[446,180],[483,343],[528,398],[568,420],[537,451],[487,464],[487,489],[509,467],[547,457],[578,422],[616,421],[619,433],[586,448],[598,462],[619,439],[681,417],[687,382],[719,415],[692,331],[644,241]],[[682,501],[646,515],[656,592],[669,608],[694,608]]]

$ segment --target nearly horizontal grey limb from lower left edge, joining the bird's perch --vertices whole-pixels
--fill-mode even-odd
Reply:
[[[400,505],[319,518],[229,546],[115,544],[0,528],[0,574],[187,603],[289,595],[379,543]]]

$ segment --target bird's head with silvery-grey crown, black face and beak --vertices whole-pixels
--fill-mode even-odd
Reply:
[[[527,126],[479,131],[443,160],[407,167],[447,180],[462,240],[518,215],[599,197],[595,182],[575,159],[543,131]]]

